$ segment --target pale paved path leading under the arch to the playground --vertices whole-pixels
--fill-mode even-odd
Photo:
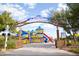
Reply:
[[[3,56],[72,56],[71,52],[55,48],[51,43],[32,43],[24,45],[23,48],[0,53]]]

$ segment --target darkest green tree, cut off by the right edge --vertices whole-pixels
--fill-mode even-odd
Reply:
[[[75,34],[79,30],[79,4],[77,3],[68,3],[71,16],[70,16],[70,24],[73,32],[73,38],[75,39]]]

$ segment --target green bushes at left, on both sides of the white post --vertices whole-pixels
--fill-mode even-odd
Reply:
[[[18,40],[18,37],[15,36],[9,36],[7,40],[7,49],[13,49],[16,48],[16,42]],[[4,48],[5,44],[5,38],[3,36],[0,36],[0,48]]]

